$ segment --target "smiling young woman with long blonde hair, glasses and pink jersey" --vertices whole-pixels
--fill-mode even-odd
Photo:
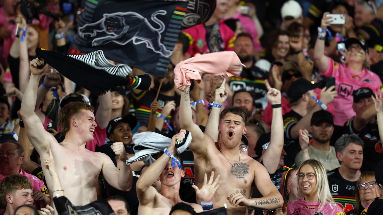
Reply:
[[[332,199],[326,169],[317,160],[306,160],[298,169],[298,200],[289,202],[287,215],[345,215]]]

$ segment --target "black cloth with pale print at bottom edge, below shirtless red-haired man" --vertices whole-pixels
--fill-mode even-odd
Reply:
[[[97,200],[84,206],[74,206],[65,196],[54,197],[59,215],[116,215],[106,200]]]

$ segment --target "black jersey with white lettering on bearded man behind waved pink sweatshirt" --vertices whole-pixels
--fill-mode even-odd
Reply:
[[[255,59],[253,62],[255,62]],[[229,86],[233,92],[242,89],[252,91],[255,96],[254,99],[257,100],[266,96],[265,80],[267,78],[268,72],[262,71],[253,64],[250,68],[243,68],[238,77],[231,77]]]

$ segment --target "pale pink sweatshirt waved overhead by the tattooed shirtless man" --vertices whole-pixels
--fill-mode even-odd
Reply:
[[[179,90],[190,87],[190,80],[201,83],[200,73],[228,75],[242,72],[241,60],[233,51],[213,52],[182,60],[174,68],[174,83]]]

